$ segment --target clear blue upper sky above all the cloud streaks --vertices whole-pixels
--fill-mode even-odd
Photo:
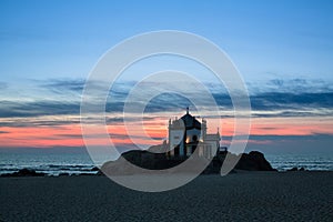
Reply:
[[[1,1],[1,73],[84,78],[109,48],[147,31],[194,32],[246,80],[332,79],[331,1]]]

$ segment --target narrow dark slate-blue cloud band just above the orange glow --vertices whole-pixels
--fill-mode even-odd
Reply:
[[[228,94],[214,94],[222,110],[231,110],[232,103]],[[251,107],[254,117],[309,117],[331,115],[333,109],[333,92],[323,93],[282,93],[268,92],[251,95]],[[138,101],[138,104],[141,104]],[[145,112],[165,112],[192,105],[191,101],[176,94],[162,94],[150,101]],[[124,102],[111,101],[105,111],[122,112]],[[193,107],[193,105],[192,105]],[[265,112],[266,111],[266,112]],[[274,111],[274,112],[270,112]],[[80,101],[0,101],[0,118],[24,118],[41,115],[79,114]],[[117,120],[112,120],[117,121]],[[121,120],[119,120],[121,121]]]

